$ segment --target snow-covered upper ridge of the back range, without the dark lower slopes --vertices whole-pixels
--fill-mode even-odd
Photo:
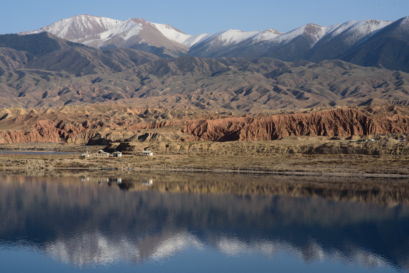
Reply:
[[[20,34],[48,31],[55,36],[98,48],[108,44],[113,47],[132,47],[145,43],[154,44],[156,47],[169,46],[172,49],[176,47],[186,53],[189,48],[195,50],[202,48],[209,54],[213,52],[217,55],[217,52],[250,47],[261,42],[263,45],[271,45],[273,49],[292,43],[299,37],[306,39],[311,47],[321,40],[329,41],[339,35],[342,35],[349,45],[359,44],[391,23],[393,21],[370,19],[326,27],[307,24],[286,33],[275,29],[264,31],[226,29],[213,34],[189,35],[171,25],[147,22],[142,18],[120,21],[83,14],[61,19],[34,31],[20,32]],[[402,18],[400,25],[409,31],[409,16]]]

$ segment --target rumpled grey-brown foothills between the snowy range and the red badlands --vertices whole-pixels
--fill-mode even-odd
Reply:
[[[123,50],[131,49],[109,51],[112,57],[106,59],[105,51],[71,48],[35,60],[27,65],[30,69],[0,71],[4,98],[0,104],[46,109],[115,102],[135,107],[274,114],[409,102],[409,74],[339,60],[313,64],[271,58],[180,57],[135,66],[127,59],[131,54]],[[61,56],[49,58],[51,54]],[[135,54],[142,59],[137,63],[152,57]]]

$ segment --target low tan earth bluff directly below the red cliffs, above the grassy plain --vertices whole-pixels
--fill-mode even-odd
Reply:
[[[252,154],[409,154],[409,143],[382,140],[361,143],[343,141],[229,141],[229,142],[122,142],[117,151],[139,154],[143,150],[174,154],[247,156]],[[109,147],[108,147],[109,150]],[[112,148],[113,150],[113,148]]]

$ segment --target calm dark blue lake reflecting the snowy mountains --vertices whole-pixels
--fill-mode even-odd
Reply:
[[[1,272],[408,272],[407,179],[0,172]]]

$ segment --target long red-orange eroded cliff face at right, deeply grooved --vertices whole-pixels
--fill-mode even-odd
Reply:
[[[187,123],[183,132],[202,140],[256,141],[285,136],[345,137],[408,131],[407,115],[372,119],[359,110],[342,108],[307,114],[195,120]]]

